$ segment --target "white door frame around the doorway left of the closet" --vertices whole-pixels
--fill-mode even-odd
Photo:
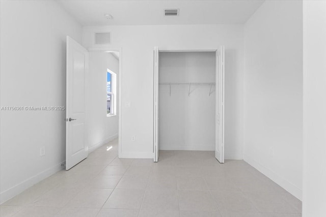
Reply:
[[[119,52],[119,130],[118,130],[118,157],[121,158],[121,150],[122,150],[122,48],[121,47],[96,47],[89,48],[89,52]]]

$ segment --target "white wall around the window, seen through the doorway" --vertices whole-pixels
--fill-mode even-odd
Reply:
[[[106,69],[110,69],[117,74],[117,84],[119,84],[119,60],[112,53],[100,51],[90,52],[89,58],[86,91],[88,102],[87,129],[88,147],[92,151],[105,142],[118,137],[118,112],[115,116],[106,116]],[[119,101],[117,100],[117,111],[118,105]]]

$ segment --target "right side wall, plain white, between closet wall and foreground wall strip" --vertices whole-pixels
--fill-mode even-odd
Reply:
[[[244,26],[244,160],[302,198],[302,2],[266,1]]]

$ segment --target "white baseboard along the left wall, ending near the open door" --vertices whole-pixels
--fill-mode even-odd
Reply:
[[[0,193],[0,204],[3,204],[7,200],[15,197],[16,195],[20,194],[21,192],[25,191],[26,189],[32,187],[34,184],[42,181],[43,179],[49,177],[50,175],[55,174],[56,172],[62,170],[65,168],[65,166],[62,166],[65,164],[65,161],[61,162],[60,164],[57,164],[56,166],[53,166],[49,169],[44,170],[43,172],[40,172],[31,178],[28,178],[18,184],[16,184],[14,187],[3,191]]]

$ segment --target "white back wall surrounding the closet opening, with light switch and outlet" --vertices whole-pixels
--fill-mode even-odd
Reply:
[[[122,48],[122,157],[153,158],[154,46],[196,50],[225,45],[225,157],[242,159],[243,25],[89,26],[83,28],[86,48],[93,47],[95,30],[111,32],[111,46]]]

